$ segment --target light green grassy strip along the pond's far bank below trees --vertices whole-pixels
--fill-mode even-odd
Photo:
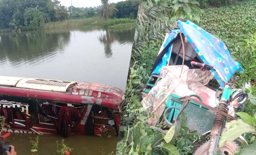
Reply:
[[[123,27],[124,24],[132,25],[135,23],[134,19],[109,19],[105,21],[99,17],[85,18],[85,19],[72,19],[65,21],[57,21],[46,23],[44,29],[59,29],[59,28],[81,28],[85,26],[98,26],[98,27]]]

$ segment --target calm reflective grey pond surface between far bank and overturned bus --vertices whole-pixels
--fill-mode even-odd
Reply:
[[[125,90],[133,33],[133,28],[0,33],[0,75],[87,81]]]

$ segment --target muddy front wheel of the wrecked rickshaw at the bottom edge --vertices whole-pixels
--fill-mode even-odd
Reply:
[[[193,155],[207,155],[209,144],[208,140],[197,148]],[[238,150],[240,150],[240,146],[234,141],[227,141],[223,147],[217,148],[217,152],[221,152],[221,155],[234,155]]]

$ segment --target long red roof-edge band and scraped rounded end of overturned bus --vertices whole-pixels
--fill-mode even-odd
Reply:
[[[79,91],[84,89],[88,92],[92,92],[92,95],[80,95]],[[115,87],[109,87],[101,84],[90,84],[90,83],[79,83],[78,85],[69,88],[68,91],[72,92],[53,92],[53,91],[41,91],[41,90],[31,90],[26,88],[16,88],[16,87],[4,87],[0,86],[0,94],[2,95],[12,95],[12,96],[22,96],[27,98],[38,98],[38,99],[49,99],[62,102],[72,102],[72,103],[83,103],[83,104],[99,104],[104,107],[109,107],[112,109],[118,109],[118,104],[120,104],[124,99],[124,92]],[[76,90],[76,91],[74,91]],[[74,92],[78,92],[77,95]],[[99,96],[99,94],[101,94]],[[99,97],[98,97],[99,96]]]

